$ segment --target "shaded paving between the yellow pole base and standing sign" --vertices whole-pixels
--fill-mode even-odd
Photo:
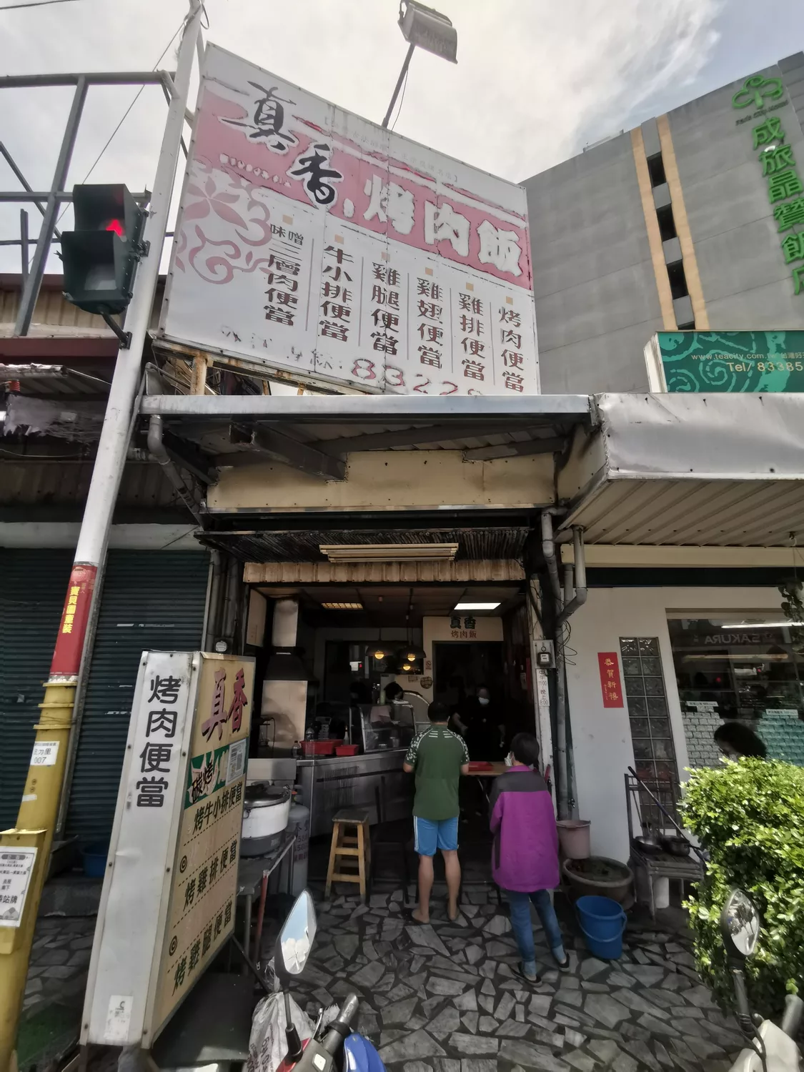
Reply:
[[[95,918],[36,921],[17,1038],[20,1070],[42,1066],[78,1038]]]

